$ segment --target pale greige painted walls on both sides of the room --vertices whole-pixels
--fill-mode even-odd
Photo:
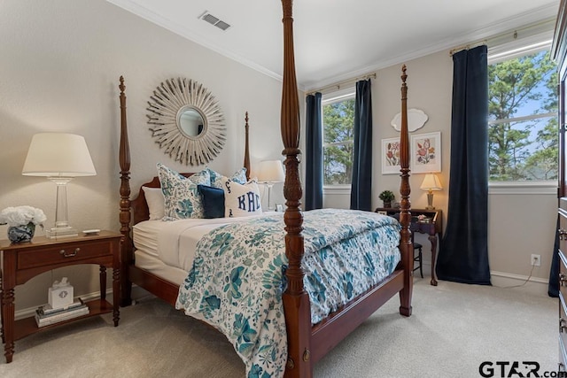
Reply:
[[[24,177],[21,168],[32,135],[70,132],[83,135],[97,176],[69,184],[71,224],[79,229],[118,230],[118,78],[126,78],[128,127],[132,150],[132,188],[155,175],[162,162],[179,171],[195,171],[174,163],[159,150],[146,122],[146,103],[161,81],[183,76],[206,86],[225,113],[228,143],[210,166],[232,173],[243,159],[244,117],[250,113],[252,170],[260,160],[280,158],[281,82],[184,40],[104,1],[4,0],[0,12],[0,209],[29,204],[42,208],[51,227],[55,215],[54,185],[39,177]],[[296,36],[298,38],[300,36]],[[443,173],[447,188],[452,62],[447,51],[418,58],[408,65],[408,107],[423,109],[430,119],[416,133],[441,131]],[[399,177],[382,175],[380,140],[397,135],[390,120],[400,112],[400,66],[380,70],[373,80],[375,175],[373,204],[384,189],[397,192]],[[302,94],[299,95],[303,99]],[[303,107],[303,101],[300,101]],[[301,120],[304,120],[301,114]],[[277,137],[276,137],[277,136]],[[198,167],[201,168],[201,167]],[[423,207],[418,189],[423,174],[411,178],[412,204]],[[282,203],[281,184],[272,190]],[[341,206],[344,197],[328,197]],[[348,202],[346,202],[348,203]],[[447,211],[447,189],[435,194],[437,207]],[[525,204],[537,204],[527,207]],[[499,196],[490,200],[490,261],[493,271],[529,274],[531,253],[542,255],[536,277],[547,278],[555,228],[555,197]],[[529,217],[528,217],[529,214]],[[526,229],[529,232],[518,232]],[[6,227],[0,226],[0,235]],[[42,235],[39,230],[37,235]],[[5,236],[1,236],[5,237]],[[428,256],[427,254],[425,256]],[[75,292],[97,291],[97,267],[73,266],[42,274],[16,289],[17,309],[42,305],[47,288],[69,277]]]

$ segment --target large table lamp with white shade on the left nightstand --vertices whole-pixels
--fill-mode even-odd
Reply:
[[[78,235],[77,230],[69,226],[66,184],[76,176],[97,174],[85,139],[64,133],[34,135],[21,174],[44,176],[57,185],[55,227],[46,230],[45,235],[51,239]]]

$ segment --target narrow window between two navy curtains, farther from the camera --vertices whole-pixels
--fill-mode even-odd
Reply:
[[[350,185],[353,175],[354,96],[322,99],[323,185]]]

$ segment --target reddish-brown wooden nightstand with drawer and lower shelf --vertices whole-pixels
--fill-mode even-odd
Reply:
[[[2,341],[6,363],[12,362],[14,341],[39,330],[56,327],[73,320],[113,312],[114,327],[120,319],[120,239],[122,235],[101,231],[94,235],[79,235],[56,239],[35,237],[30,243],[11,244],[0,241],[2,266],[0,291],[2,292]],[[14,320],[14,288],[43,272],[62,266],[97,264],[100,266],[100,299],[87,302],[89,313],[73,320],[64,320],[38,328],[35,318]],[[113,304],[106,301],[106,269],[113,269]],[[47,288],[45,288],[47,291]]]

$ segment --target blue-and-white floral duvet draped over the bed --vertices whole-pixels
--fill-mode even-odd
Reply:
[[[391,274],[400,224],[374,212],[304,212],[305,288],[316,324]],[[283,214],[231,223],[198,242],[176,307],[227,336],[249,377],[283,376],[287,339]]]

